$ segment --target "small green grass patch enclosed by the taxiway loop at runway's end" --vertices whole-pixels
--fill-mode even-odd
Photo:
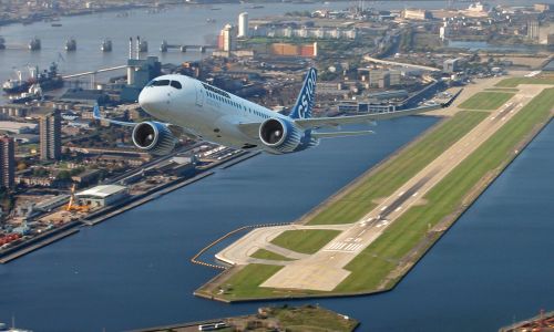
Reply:
[[[339,234],[340,230],[332,229],[285,230],[271,243],[296,252],[316,253]]]

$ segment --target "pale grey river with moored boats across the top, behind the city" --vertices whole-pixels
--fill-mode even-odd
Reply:
[[[554,3],[554,0],[543,1]],[[529,4],[524,0],[502,0],[495,4]],[[178,6],[156,14],[148,14],[145,10],[130,11],[126,18],[116,18],[115,12],[105,12],[91,15],[62,18],[60,28],[51,23],[38,22],[30,25],[12,24],[0,27],[0,35],[6,38],[7,45],[19,45],[22,49],[0,51],[0,82],[14,76],[14,69],[25,72],[27,65],[38,64],[47,69],[52,61],[59,62],[64,74],[86,72],[101,68],[125,64],[129,54],[129,38],[141,35],[148,41],[150,54],[161,56],[162,62],[181,63],[183,61],[198,60],[199,52],[189,51],[181,53],[172,50],[166,54],[160,53],[160,44],[166,39],[175,44],[214,44],[216,35],[227,22],[236,23],[237,17],[243,11],[248,11],[250,20],[268,15],[283,14],[288,11],[304,11],[316,9],[346,9],[353,3],[266,3],[265,8],[252,9],[252,4],[214,4],[214,6]],[[401,10],[406,7],[439,9],[444,8],[448,1],[367,1],[380,10]],[[469,6],[466,2],[454,2],[456,8]],[[211,10],[213,7],[220,10]],[[216,23],[207,23],[206,19],[213,18]],[[27,43],[33,37],[42,40],[42,50],[30,52]],[[76,52],[65,52],[64,41],[74,38],[78,43]],[[110,38],[113,41],[113,52],[100,51],[101,40]],[[98,75],[98,80],[114,75],[107,73]],[[123,74],[123,71],[120,72]],[[89,82],[89,77],[82,79]],[[6,101],[6,100],[3,100]],[[0,100],[0,103],[2,100]]]

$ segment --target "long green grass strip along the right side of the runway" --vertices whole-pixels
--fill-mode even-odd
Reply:
[[[336,291],[372,291],[397,267],[399,260],[428,236],[428,227],[454,214],[463,198],[483,178],[501,170],[514,156],[514,148],[540,123],[551,117],[554,89],[543,91],[490,139],[432,188],[428,204],[410,208],[346,268],[352,273]],[[389,281],[391,287],[399,277]]]

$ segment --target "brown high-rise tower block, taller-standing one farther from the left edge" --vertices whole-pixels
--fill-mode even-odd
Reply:
[[[62,156],[62,118],[60,111],[44,115],[40,120],[40,158],[59,160]]]

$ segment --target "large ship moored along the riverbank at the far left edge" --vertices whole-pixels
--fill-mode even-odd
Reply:
[[[2,84],[3,92],[17,94],[29,91],[32,84],[39,83],[42,91],[50,91],[63,86],[63,79],[58,73],[58,65],[52,62],[48,71],[39,72],[39,66],[29,68],[30,76],[23,80],[21,71],[17,71],[17,79],[9,79]]]

